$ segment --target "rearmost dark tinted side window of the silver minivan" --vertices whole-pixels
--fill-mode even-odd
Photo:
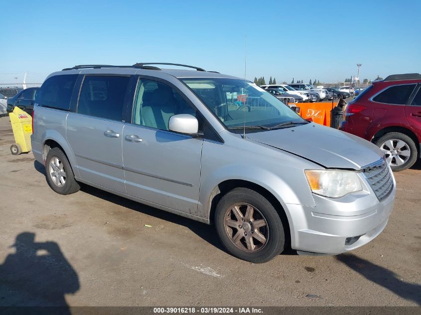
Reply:
[[[77,74],[70,74],[48,78],[36,94],[35,103],[40,106],[69,110],[70,98],[77,77]]]

